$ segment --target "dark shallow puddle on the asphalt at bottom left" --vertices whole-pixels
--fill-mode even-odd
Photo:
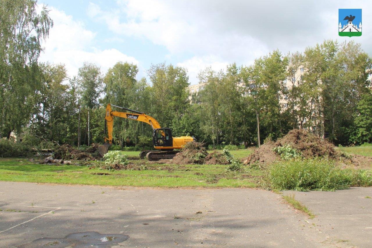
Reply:
[[[52,248],[110,248],[113,245],[124,242],[129,238],[128,235],[123,234],[101,234],[99,232],[78,232],[71,233],[64,238],[41,238],[32,241],[31,243],[20,245],[19,248],[40,248],[40,247],[52,247]]]

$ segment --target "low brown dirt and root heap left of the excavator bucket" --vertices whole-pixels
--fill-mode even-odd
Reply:
[[[98,153],[98,144],[92,144],[88,149],[85,151],[78,150],[74,147],[71,147],[68,144],[64,144],[61,146],[58,146],[54,150],[54,159],[68,159],[68,160],[96,160],[96,158],[99,158]]]

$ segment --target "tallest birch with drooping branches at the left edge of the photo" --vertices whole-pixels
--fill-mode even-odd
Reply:
[[[40,88],[41,41],[53,22],[34,0],[0,0],[0,136],[19,132],[28,123]]]

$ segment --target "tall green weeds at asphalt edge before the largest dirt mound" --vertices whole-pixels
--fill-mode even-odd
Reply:
[[[269,188],[297,191],[339,190],[349,188],[358,180],[360,185],[368,183],[365,174],[353,175],[350,171],[335,168],[334,162],[327,159],[278,161],[269,166],[266,179]]]

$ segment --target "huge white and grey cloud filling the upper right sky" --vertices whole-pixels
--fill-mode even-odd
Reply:
[[[338,8],[346,4],[371,8],[367,1],[350,5],[345,0],[118,0],[115,10],[105,11],[91,5],[94,16],[113,32],[164,45],[170,54],[217,55],[232,63],[252,61],[275,49],[303,51],[324,39],[339,38],[334,23]],[[365,12],[363,19],[367,18]],[[368,39],[361,40],[369,48]]]

